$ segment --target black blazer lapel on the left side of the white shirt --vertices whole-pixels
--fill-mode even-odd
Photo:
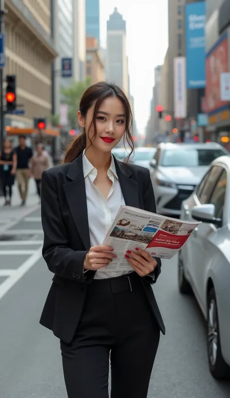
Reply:
[[[81,236],[86,250],[90,249],[89,222],[87,214],[85,182],[82,167],[82,154],[75,159],[68,171],[67,178],[71,180],[64,184],[66,200],[70,213]]]

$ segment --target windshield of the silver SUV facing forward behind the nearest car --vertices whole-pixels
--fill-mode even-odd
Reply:
[[[219,156],[226,155],[221,149],[172,149],[165,150],[161,166],[196,167],[208,166]]]

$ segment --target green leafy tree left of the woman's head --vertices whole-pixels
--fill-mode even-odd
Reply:
[[[90,86],[91,78],[87,78],[83,82],[75,82],[71,87],[63,88],[63,102],[68,105],[68,119],[71,129],[77,127],[77,113],[79,110],[80,100],[84,91]]]

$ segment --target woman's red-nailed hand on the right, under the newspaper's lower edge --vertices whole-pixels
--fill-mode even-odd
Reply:
[[[156,260],[147,251],[140,248],[136,248],[136,251],[127,250],[125,257],[134,271],[140,276],[150,274],[157,266]]]

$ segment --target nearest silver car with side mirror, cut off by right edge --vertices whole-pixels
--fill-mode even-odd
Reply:
[[[230,370],[230,156],[212,163],[183,201],[181,219],[202,221],[180,250],[179,288],[197,298],[207,320],[210,371],[222,379]]]

